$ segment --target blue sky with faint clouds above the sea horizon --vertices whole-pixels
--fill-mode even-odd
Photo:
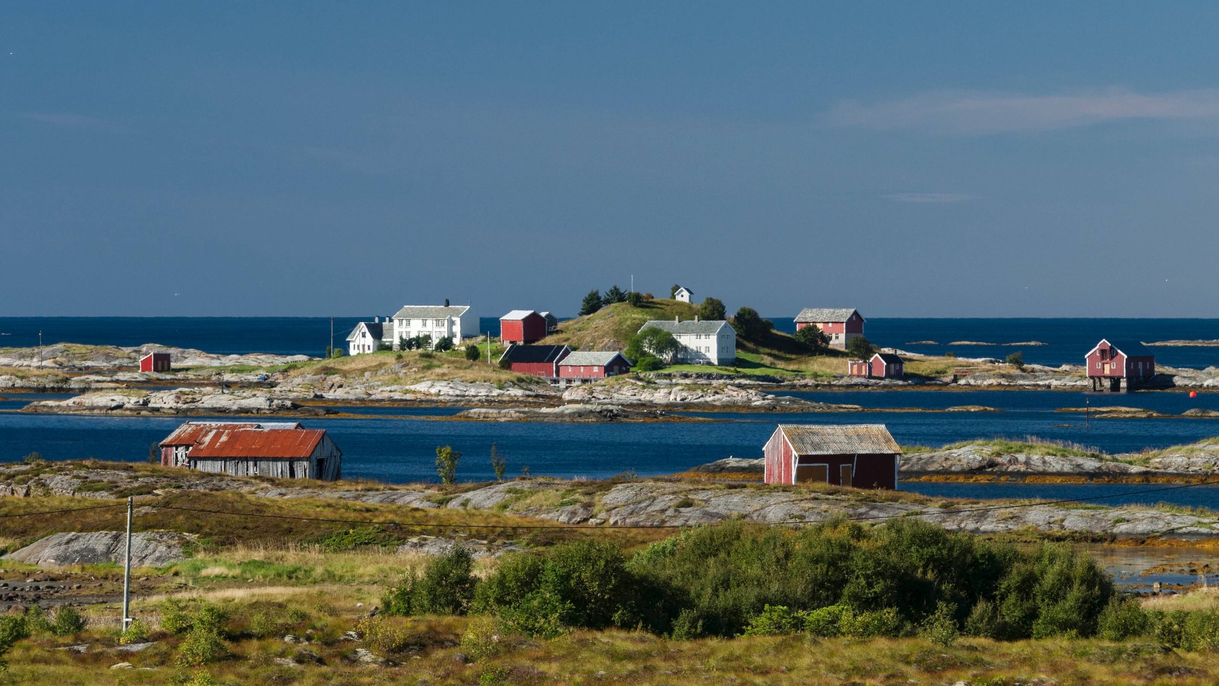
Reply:
[[[0,4],[0,315],[1219,316],[1213,4]]]

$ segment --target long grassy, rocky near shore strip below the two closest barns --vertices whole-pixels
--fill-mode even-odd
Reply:
[[[62,468],[60,468],[62,465]],[[262,498],[324,498],[354,503],[397,504],[423,509],[492,510],[570,525],[694,526],[744,519],[798,525],[846,516],[883,521],[917,516],[950,531],[1046,533],[1108,538],[1209,538],[1219,536],[1219,516],[1142,507],[1075,508],[1022,502],[954,500],[913,493],[853,488],[807,488],[666,480],[567,481],[528,478],[471,485],[452,492],[428,485],[268,485],[265,480],[183,472],[167,468],[89,469],[80,464],[0,466],[0,494],[115,498],[137,494],[140,507],[155,507],[162,493],[238,491]],[[126,466],[126,465],[124,465]],[[59,469],[57,469],[59,468]],[[22,478],[27,474],[28,478]],[[15,483],[23,481],[23,483]],[[84,487],[84,485],[90,485]],[[104,488],[98,485],[102,485]]]

